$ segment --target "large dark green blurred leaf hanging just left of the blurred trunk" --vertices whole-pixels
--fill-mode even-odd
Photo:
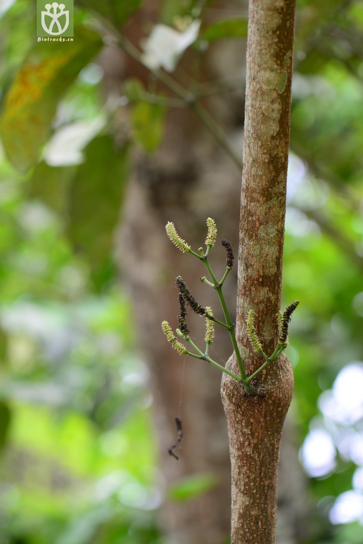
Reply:
[[[67,231],[76,249],[88,257],[96,287],[112,266],[110,255],[125,193],[129,147],[125,144],[116,150],[109,135],[95,138],[86,147],[85,161],[72,181]]]

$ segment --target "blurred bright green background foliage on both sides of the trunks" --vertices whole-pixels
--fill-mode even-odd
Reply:
[[[97,54],[142,4],[76,3],[62,44],[36,41],[35,2],[0,4],[1,544],[162,542],[165,492],[193,500],[213,486],[202,475],[163,489],[115,265],[130,156],[157,152],[181,100],[135,78],[104,91]],[[189,46],[202,62],[210,42],[245,40],[237,7],[207,24],[213,2],[164,0],[149,35],[173,26],[171,45],[165,57],[150,38],[145,63],[172,72]],[[284,301],[301,301],[288,355],[315,505],[304,542],[362,542],[362,27],[361,1],[298,0]]]

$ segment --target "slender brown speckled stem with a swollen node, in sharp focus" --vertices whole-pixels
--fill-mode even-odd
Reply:
[[[236,323],[248,375],[263,363],[247,336],[245,319],[251,308],[265,353],[273,352],[278,339],[294,8],[295,0],[251,0],[249,4]],[[238,372],[233,357],[227,367]],[[287,357],[280,355],[253,385],[255,394],[247,395],[235,380],[223,376],[232,544],[275,541],[281,432],[293,391]]]

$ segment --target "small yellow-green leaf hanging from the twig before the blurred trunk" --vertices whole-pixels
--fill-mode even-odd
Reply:
[[[132,109],[133,137],[147,153],[156,151],[162,142],[165,108],[138,102]]]

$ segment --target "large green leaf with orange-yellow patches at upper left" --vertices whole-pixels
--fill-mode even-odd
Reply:
[[[10,162],[21,172],[36,164],[58,102],[102,46],[90,30],[78,28],[75,35],[73,42],[37,42],[5,97],[0,133]]]

